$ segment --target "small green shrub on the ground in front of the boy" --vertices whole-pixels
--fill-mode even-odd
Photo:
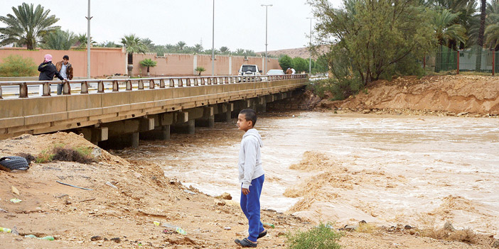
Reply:
[[[338,249],[336,242],[343,234],[335,231],[330,223],[320,223],[308,231],[286,234],[289,249]]]

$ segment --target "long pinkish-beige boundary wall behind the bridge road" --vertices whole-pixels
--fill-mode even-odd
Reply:
[[[0,61],[3,62],[9,55],[28,57],[38,66],[43,56],[50,54],[53,62],[63,60],[64,55],[70,57],[75,77],[87,76],[87,50],[26,50],[25,48],[0,48]],[[149,58],[157,62],[149,72],[153,76],[187,76],[195,75],[196,67],[204,67],[201,75],[211,75],[211,55],[192,54],[165,54],[156,56],[155,53],[134,54],[133,75],[146,76],[147,68],[140,65],[140,61]],[[124,48],[92,48],[90,50],[91,76],[103,77],[113,74],[127,74],[127,52]],[[247,57],[237,55],[215,55],[215,75],[236,75],[241,65],[258,65],[264,70],[264,57]],[[54,63],[55,64],[55,63]],[[277,58],[268,58],[267,70],[280,69]],[[265,72],[263,72],[264,74]]]

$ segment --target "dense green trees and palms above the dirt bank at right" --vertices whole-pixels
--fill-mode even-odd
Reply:
[[[343,99],[377,79],[422,75],[421,60],[440,46],[499,50],[499,0],[308,0],[318,45],[327,45],[327,82]],[[479,7],[478,7],[479,6]]]

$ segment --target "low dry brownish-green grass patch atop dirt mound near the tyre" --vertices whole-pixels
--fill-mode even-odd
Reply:
[[[44,163],[50,161],[66,161],[90,164],[95,162],[95,159],[92,157],[91,153],[92,148],[90,147],[71,148],[63,144],[57,144],[50,150],[42,150],[42,152],[36,157],[35,162]]]

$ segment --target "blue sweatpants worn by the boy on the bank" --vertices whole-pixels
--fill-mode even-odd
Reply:
[[[248,240],[251,241],[257,241],[259,233],[264,231],[262,221],[260,221],[260,194],[262,194],[264,180],[265,175],[253,179],[250,194],[244,195],[241,192],[241,209],[250,223]]]

